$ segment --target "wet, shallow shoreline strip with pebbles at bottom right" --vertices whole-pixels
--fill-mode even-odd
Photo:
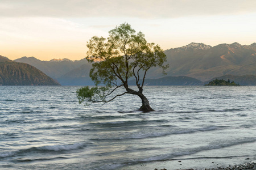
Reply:
[[[233,160],[233,161],[231,161]],[[256,158],[243,159],[172,159],[127,165],[118,170],[256,170]]]

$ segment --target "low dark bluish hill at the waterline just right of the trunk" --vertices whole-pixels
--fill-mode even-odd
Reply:
[[[130,80],[129,84],[135,85],[135,80]],[[145,79],[144,84],[147,86],[200,86],[203,82],[188,76],[164,76],[159,79]]]

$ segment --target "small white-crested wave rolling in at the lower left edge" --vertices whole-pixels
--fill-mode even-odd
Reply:
[[[11,152],[0,152],[0,159],[6,158],[15,155],[23,155],[28,153],[44,153],[44,152],[56,152],[56,151],[69,151],[69,150],[79,150],[82,148],[87,147],[87,145],[83,143],[74,143],[68,145],[52,145],[52,146],[40,146],[40,147],[31,147],[23,150],[18,151],[11,151]]]

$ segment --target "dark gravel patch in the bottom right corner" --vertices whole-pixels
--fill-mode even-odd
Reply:
[[[247,164],[243,164],[243,165],[234,165],[234,166],[229,166],[226,168],[222,168],[222,167],[217,167],[217,168],[205,168],[203,170],[255,170],[256,169],[256,163],[252,162],[252,163],[247,163]],[[154,169],[154,170],[168,170],[168,169]],[[177,170],[181,170],[181,169],[177,169]],[[182,169],[182,170],[201,170],[201,169]]]

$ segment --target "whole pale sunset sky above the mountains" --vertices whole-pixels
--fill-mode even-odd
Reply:
[[[93,36],[122,23],[163,50],[191,42],[256,42],[255,0],[0,0],[0,55],[86,57]]]

